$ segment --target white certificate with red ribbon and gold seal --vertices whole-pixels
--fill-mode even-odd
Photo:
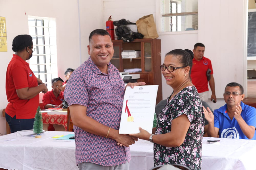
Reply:
[[[119,134],[152,133],[158,85],[126,87]]]

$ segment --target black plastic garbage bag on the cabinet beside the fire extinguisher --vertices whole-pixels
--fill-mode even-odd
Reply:
[[[131,42],[136,38],[143,38],[144,35],[138,32],[133,32],[129,27],[127,27],[127,24],[136,24],[133,22],[130,22],[129,20],[118,20],[114,21],[113,24],[116,26],[115,28],[115,34],[117,36],[118,40],[123,40],[124,42]]]

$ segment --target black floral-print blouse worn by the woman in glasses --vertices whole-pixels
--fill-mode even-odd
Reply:
[[[183,88],[167,102],[158,115],[155,134],[171,132],[172,120],[183,114],[191,123],[184,142],[179,147],[165,147],[154,143],[155,166],[181,164],[192,170],[201,169],[204,120],[202,103],[195,86]]]

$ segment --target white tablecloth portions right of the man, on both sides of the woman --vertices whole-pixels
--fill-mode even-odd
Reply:
[[[209,144],[208,139],[219,139]],[[153,143],[139,140],[130,146],[130,170],[154,167]],[[202,170],[255,170],[256,141],[243,139],[203,138]]]

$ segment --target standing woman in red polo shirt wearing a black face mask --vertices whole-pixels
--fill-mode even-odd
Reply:
[[[34,117],[39,106],[39,93],[46,93],[47,86],[35,77],[26,60],[35,50],[30,35],[18,35],[13,39],[12,60],[6,71],[6,96],[8,105],[5,118],[11,133],[33,128]]]

